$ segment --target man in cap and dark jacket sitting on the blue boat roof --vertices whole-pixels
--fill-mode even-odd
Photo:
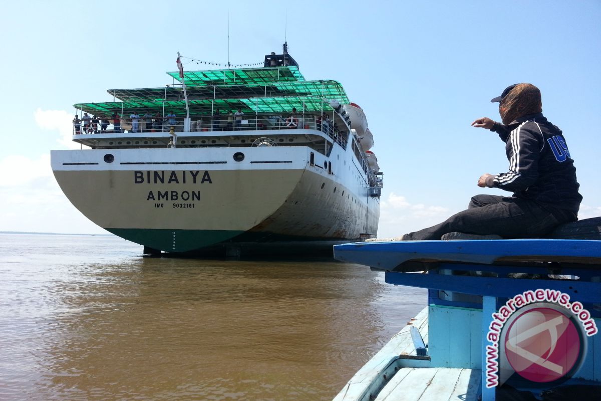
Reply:
[[[542,114],[538,88],[511,85],[491,102],[500,102],[502,124],[483,117],[472,126],[498,133],[510,165],[507,173],[483,174],[478,186],[513,195],[476,195],[467,210],[441,224],[388,240],[542,237],[558,224],[578,219],[582,196],[576,168],[563,133]],[[464,234],[445,236],[457,232]]]

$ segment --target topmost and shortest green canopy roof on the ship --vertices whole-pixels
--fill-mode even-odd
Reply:
[[[168,72],[177,81],[182,82],[178,71]],[[249,69],[227,69],[209,71],[185,71],[186,86],[203,85],[248,85],[268,84],[279,81],[305,81],[298,67],[261,67]]]

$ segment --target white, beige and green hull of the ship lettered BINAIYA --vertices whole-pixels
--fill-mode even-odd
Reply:
[[[52,168],[91,221],[161,251],[282,242],[328,247],[376,234],[379,200],[368,195],[344,150],[326,157],[303,146],[245,148],[240,162],[236,152],[53,151]]]

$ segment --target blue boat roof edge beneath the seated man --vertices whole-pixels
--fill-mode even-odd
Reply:
[[[403,270],[403,263],[412,261],[484,265],[500,262],[563,262],[601,270],[601,241],[504,239],[355,242],[335,245],[334,257],[343,262],[386,271],[397,268]]]

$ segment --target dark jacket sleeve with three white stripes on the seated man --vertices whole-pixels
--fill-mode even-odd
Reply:
[[[509,171],[495,176],[493,185],[496,188],[512,192],[523,191],[538,179],[541,136],[526,124],[528,121],[509,134],[505,145]]]

